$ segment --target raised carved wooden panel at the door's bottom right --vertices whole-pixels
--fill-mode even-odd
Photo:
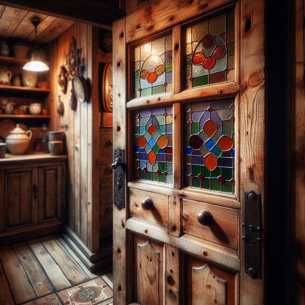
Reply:
[[[218,277],[207,263],[192,268],[192,305],[202,304],[227,304],[227,281]]]

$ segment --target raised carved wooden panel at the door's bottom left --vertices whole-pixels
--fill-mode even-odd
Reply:
[[[137,302],[159,305],[160,252],[149,241],[137,244]]]

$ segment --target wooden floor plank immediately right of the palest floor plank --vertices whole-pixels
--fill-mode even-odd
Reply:
[[[40,241],[57,262],[66,278],[74,285],[89,279],[89,276],[74,263],[67,253],[59,246],[59,244],[51,237],[40,238]]]

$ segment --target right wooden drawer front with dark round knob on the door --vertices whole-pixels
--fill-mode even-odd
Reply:
[[[210,242],[237,249],[238,210],[214,204],[183,199],[183,232]],[[204,226],[197,220],[199,212],[206,210],[213,216],[213,223]]]

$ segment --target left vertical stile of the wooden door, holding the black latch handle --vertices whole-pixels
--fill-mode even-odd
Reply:
[[[115,148],[127,151],[127,48],[125,18],[113,23],[113,143]],[[128,160],[128,156],[125,156]],[[114,304],[126,305],[128,302],[127,258],[128,258],[128,232],[126,219],[128,217],[127,185],[124,181],[125,208],[113,208],[113,300]]]

